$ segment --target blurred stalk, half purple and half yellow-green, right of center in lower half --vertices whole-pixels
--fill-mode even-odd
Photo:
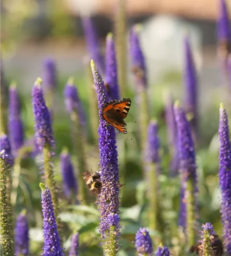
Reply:
[[[158,208],[158,175],[160,173],[159,137],[156,120],[151,120],[148,126],[146,145],[146,169],[149,197],[149,226],[157,227]]]

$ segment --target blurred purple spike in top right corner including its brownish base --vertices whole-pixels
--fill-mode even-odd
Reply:
[[[227,57],[231,49],[231,28],[229,22],[228,8],[225,0],[219,0],[219,14],[217,20],[217,37],[219,53]]]

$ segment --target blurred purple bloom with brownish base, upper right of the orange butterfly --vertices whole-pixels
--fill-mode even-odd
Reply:
[[[141,49],[138,32],[140,25],[134,25],[130,32],[130,55],[132,61],[132,70],[137,79],[137,86],[147,87],[147,72],[145,58]]]

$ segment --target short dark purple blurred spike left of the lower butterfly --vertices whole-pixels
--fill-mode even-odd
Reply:
[[[77,194],[76,179],[74,176],[73,165],[71,162],[71,157],[67,150],[63,150],[60,155],[60,167],[61,174],[63,178],[63,191],[66,197],[70,197],[72,192],[74,195]]]

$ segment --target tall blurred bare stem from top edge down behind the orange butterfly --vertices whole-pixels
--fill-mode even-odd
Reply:
[[[126,95],[127,89],[127,41],[126,41],[126,0],[118,0],[115,23],[116,51],[118,76],[121,95]]]

